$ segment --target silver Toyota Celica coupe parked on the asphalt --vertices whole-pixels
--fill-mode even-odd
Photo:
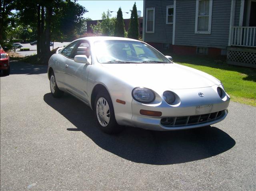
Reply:
[[[222,83],[171,60],[134,39],[80,38],[50,58],[50,90],[90,106],[106,133],[121,126],[181,130],[223,120],[230,97]]]

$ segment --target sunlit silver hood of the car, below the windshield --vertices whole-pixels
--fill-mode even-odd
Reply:
[[[211,75],[176,63],[111,63],[102,66],[134,87],[192,89],[220,85],[220,81]]]

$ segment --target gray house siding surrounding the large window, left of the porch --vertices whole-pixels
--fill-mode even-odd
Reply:
[[[213,0],[211,34],[195,33],[195,0],[176,1],[175,45],[226,48],[231,0]]]

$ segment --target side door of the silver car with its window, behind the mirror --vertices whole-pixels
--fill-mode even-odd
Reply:
[[[90,64],[77,63],[74,61],[76,55],[86,55],[90,62],[90,45],[86,40],[78,41],[70,59],[66,61],[65,83],[69,85],[68,91],[76,97],[88,102],[87,78],[90,71]]]

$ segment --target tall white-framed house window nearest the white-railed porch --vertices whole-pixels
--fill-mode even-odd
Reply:
[[[195,33],[211,33],[212,0],[196,0]]]

